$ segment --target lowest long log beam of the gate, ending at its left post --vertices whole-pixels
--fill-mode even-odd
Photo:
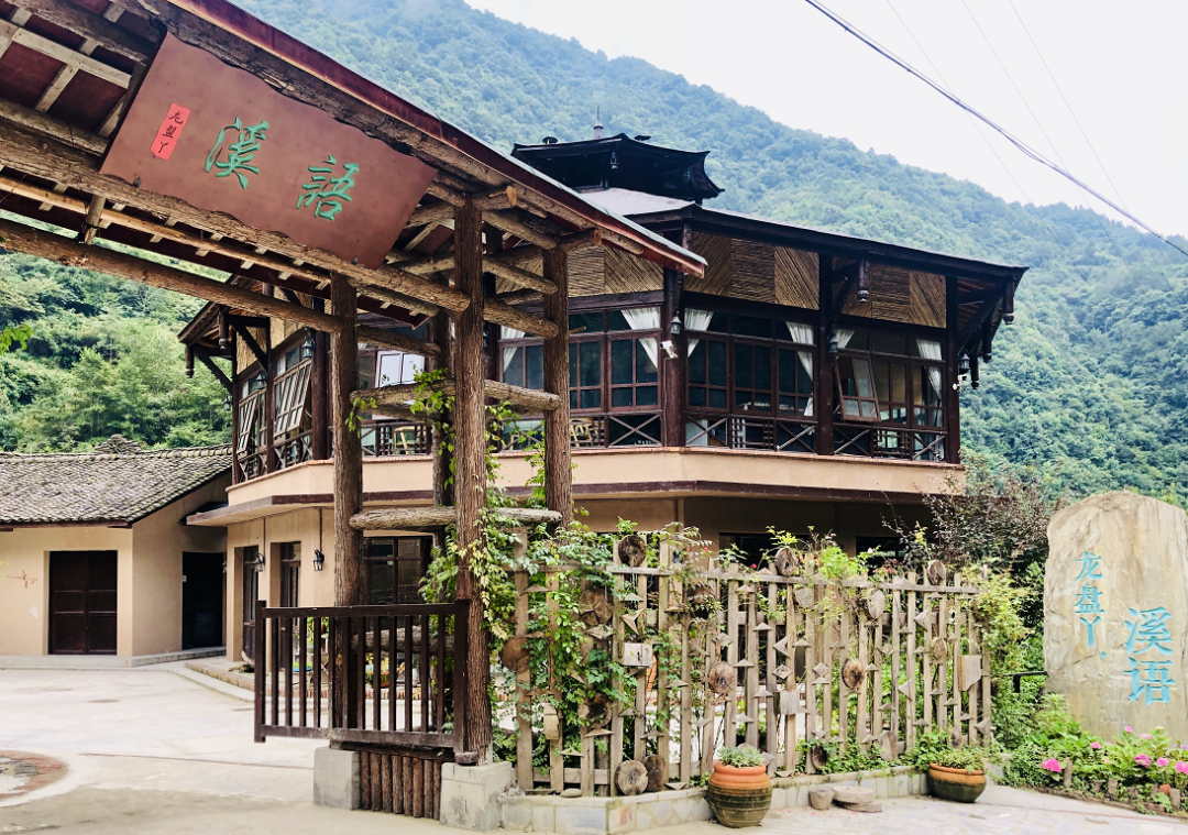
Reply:
[[[333,333],[339,327],[337,320],[326,314],[297,308],[287,302],[268,298],[244,287],[146,261],[134,255],[113,252],[105,247],[86,246],[62,235],[33,229],[21,223],[0,220],[0,236],[5,239],[5,248],[13,252],[37,255],[67,266],[103,272],[116,278],[126,278],[187,296],[196,296],[259,316],[272,316],[286,322],[296,322],[307,328]]]

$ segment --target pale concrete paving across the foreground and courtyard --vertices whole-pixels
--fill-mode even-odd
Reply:
[[[432,821],[341,811],[310,802],[308,740],[252,742],[251,694],[182,664],[129,670],[0,670],[0,749],[55,757],[68,776],[0,802],[0,834],[244,833],[245,835],[459,835]],[[1188,835],[1168,818],[991,787],[973,805],[885,801],[878,815],[772,812],[779,835]],[[714,823],[659,830],[721,835]]]

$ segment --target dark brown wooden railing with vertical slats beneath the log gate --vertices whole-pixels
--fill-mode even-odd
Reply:
[[[465,605],[257,607],[258,742],[461,749]]]

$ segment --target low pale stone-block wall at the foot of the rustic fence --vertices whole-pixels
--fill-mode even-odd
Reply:
[[[912,766],[842,774],[776,778],[771,782],[771,808],[809,805],[809,789],[822,785],[860,785],[878,798],[927,793],[924,774]],[[704,789],[684,789],[634,797],[557,797],[556,795],[505,795],[504,829],[558,835],[620,835],[708,821]]]

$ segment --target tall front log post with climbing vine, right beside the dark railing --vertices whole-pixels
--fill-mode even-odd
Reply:
[[[487,505],[487,418],[482,360],[482,215],[472,201],[454,214],[454,283],[470,305],[457,314],[454,379],[454,493],[457,506],[459,600],[468,602],[466,641],[466,715],[462,739],[467,752],[480,763],[491,761],[491,678],[487,631],[484,627],[482,597],[469,569],[472,551],[485,546],[482,511]]]

